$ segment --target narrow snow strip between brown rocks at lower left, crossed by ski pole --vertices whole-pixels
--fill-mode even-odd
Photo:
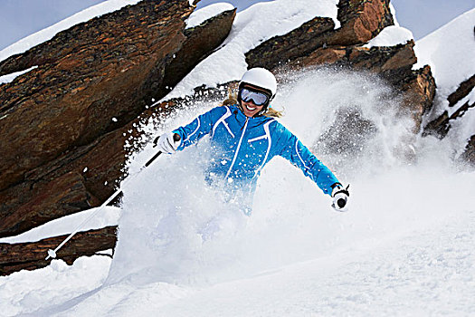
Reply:
[[[43,226],[37,226],[21,235],[8,236],[0,239],[0,243],[18,244],[24,242],[33,242],[45,239],[51,236],[69,235],[77,226],[87,219],[92,213],[96,212],[98,208],[91,208],[70,216],[63,216],[47,222]],[[120,208],[119,207],[104,207],[100,215],[94,216],[84,226],[81,231],[88,231],[92,229],[100,229],[104,226],[117,226],[119,222]]]

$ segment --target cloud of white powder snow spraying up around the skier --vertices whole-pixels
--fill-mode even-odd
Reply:
[[[217,104],[177,110],[160,126],[145,124],[144,133],[176,129]],[[450,209],[443,197],[462,195],[447,185],[458,176],[444,173],[440,166],[449,159],[433,154],[432,139],[413,136],[410,114],[399,106],[398,94],[367,73],[316,69],[281,76],[272,107],[283,110],[280,121],[351,184],[349,211],[333,212],[310,179],[275,158],[262,171],[252,216],[244,216],[204,180],[213,158],[202,139],[164,156],[125,190],[107,283],[218,283],[431,226]],[[135,153],[131,173],[151,151]],[[429,189],[431,183],[439,185]]]

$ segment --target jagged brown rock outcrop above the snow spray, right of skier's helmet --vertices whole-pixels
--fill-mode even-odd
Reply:
[[[432,107],[435,82],[429,66],[412,70],[417,62],[413,41],[391,47],[361,46],[394,24],[389,1],[341,0],[337,17],[341,23],[337,30],[332,20],[315,18],[289,34],[261,43],[246,53],[246,62],[274,72],[324,65],[374,72],[402,95],[404,111],[413,117],[414,132],[421,130],[423,114]]]

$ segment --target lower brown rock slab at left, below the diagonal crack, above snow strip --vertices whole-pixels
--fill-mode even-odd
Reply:
[[[161,102],[123,128],[29,171],[24,182],[0,192],[0,201],[5,202],[0,205],[0,218],[3,219],[0,236],[18,235],[57,217],[100,206],[115,192],[117,180],[123,178],[122,168],[128,155],[124,144],[129,139],[139,139],[138,127],[143,122],[204,98],[221,101],[226,89],[227,84],[217,89],[197,89],[196,97],[191,100]],[[138,147],[146,145],[146,141],[134,143]]]

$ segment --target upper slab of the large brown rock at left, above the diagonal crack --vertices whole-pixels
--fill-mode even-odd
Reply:
[[[185,32],[183,20],[191,12],[185,0],[148,0],[80,24],[88,32],[82,34],[80,26],[71,30],[70,43],[64,43],[74,46],[71,52],[55,53],[48,59],[53,62],[0,86],[0,132],[2,139],[14,140],[0,144],[5,162],[0,190],[21,181],[26,171],[133,120],[222,43],[234,12]]]

